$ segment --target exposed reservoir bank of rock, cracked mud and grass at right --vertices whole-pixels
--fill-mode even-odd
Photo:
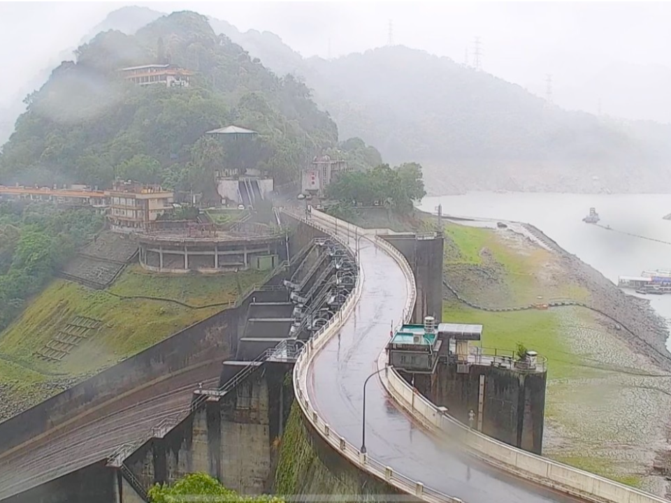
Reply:
[[[668,496],[671,356],[665,319],[534,226],[508,222],[491,228],[489,237],[476,233],[469,240],[466,233],[463,242],[452,240],[463,239],[460,232],[446,234],[452,260],[444,268],[445,300],[457,313],[456,304],[481,310],[493,327],[498,320],[517,326],[517,320],[535,317],[533,335],[519,321],[519,337],[541,354],[548,351],[549,365],[558,369],[547,382],[544,455]],[[472,250],[461,256],[461,247],[468,250],[474,242],[479,260]],[[516,279],[520,270],[529,279]],[[533,314],[536,302],[552,306],[547,320],[555,331],[547,342],[538,336],[545,327]]]

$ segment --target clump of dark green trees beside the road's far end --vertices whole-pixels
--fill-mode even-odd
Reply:
[[[396,168],[381,164],[372,170],[345,173],[327,191],[330,198],[341,203],[384,205],[401,213],[412,210],[413,201],[426,195],[421,166],[417,163]]]

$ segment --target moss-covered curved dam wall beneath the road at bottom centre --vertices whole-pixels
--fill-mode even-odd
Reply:
[[[294,500],[310,497],[347,497],[344,501],[387,502],[403,493],[363,472],[334,451],[312,430],[298,404],[291,407],[282,435],[275,471],[274,492]],[[404,501],[417,501],[403,495]]]

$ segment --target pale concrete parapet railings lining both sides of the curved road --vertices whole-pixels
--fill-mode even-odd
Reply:
[[[333,217],[326,218],[333,219]],[[305,221],[305,219],[301,220]],[[324,230],[323,226],[319,226],[315,224],[315,222],[306,221],[306,223]],[[338,223],[338,230],[340,231],[340,229],[342,229],[344,232],[346,226],[347,223],[340,221]],[[333,224],[329,227],[331,228],[326,231],[333,234]],[[351,230],[352,226],[349,228]],[[410,265],[407,263],[407,260],[401,252],[389,242],[376,236],[375,243],[396,260],[398,265],[403,269],[408,282],[412,284],[412,289],[409,289],[412,293],[409,296],[407,303],[407,306],[412,306],[414,304],[414,275],[412,274]],[[352,307],[356,303],[358,296],[361,294],[360,282],[363,281],[365,281],[365,270],[362,269],[359,272],[359,282],[357,282],[356,285],[358,290],[357,296],[352,298],[352,305],[347,306],[348,309],[343,310],[340,323],[326,328],[324,333],[320,335],[319,340],[315,340],[309,351],[303,353],[303,355],[298,358],[296,368],[294,369],[294,388],[296,396],[301,404],[301,408],[315,430],[317,430],[317,432],[319,432],[319,434],[326,439],[334,449],[340,451],[342,455],[351,462],[354,462],[355,465],[366,470],[366,472],[369,472],[382,480],[386,480],[404,492],[416,495],[422,500],[459,502],[461,500],[442,494],[431,488],[424,487],[418,481],[413,481],[402,474],[393,472],[391,468],[368,458],[366,454],[361,454],[359,449],[352,444],[349,444],[349,442],[340,437],[337,432],[331,430],[326,420],[319,417],[319,414],[317,414],[317,411],[310,403],[306,387],[308,367],[310,367],[312,359],[319,352],[319,349],[324,346],[331,336],[338,333],[338,328],[340,328],[343,323],[342,320],[347,319],[347,316],[351,314]],[[408,314],[409,312],[411,311],[406,307],[403,321],[406,321],[410,317]],[[506,472],[517,476],[519,479],[532,481],[533,483],[540,484],[547,488],[558,490],[561,493],[577,497],[580,500],[592,502],[663,503],[667,501],[661,497],[645,493],[642,490],[514,448],[503,442],[498,442],[491,437],[482,435],[482,433],[477,432],[477,430],[468,428],[466,425],[463,425],[463,423],[460,423],[459,421],[456,421],[456,419],[445,414],[441,409],[438,409],[435,404],[431,403],[424,398],[421,393],[418,393],[417,390],[412,388],[412,386],[410,386],[410,384],[408,384],[393,367],[389,367],[387,365],[386,351],[380,353],[380,357],[377,361],[377,368],[380,370],[382,384],[389,395],[391,395],[403,409],[417,419],[421,425],[424,425],[424,428],[431,431],[434,435],[442,437],[445,441],[459,442],[459,444],[465,446],[467,450],[476,458],[479,458],[479,460],[482,460],[489,465],[493,465],[498,469],[503,469]]]

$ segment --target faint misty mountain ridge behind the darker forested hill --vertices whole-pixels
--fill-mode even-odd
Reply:
[[[132,30],[161,16],[134,7],[113,14],[101,27]],[[653,192],[671,182],[671,126],[568,112],[519,85],[400,45],[305,59],[275,34],[209,22],[278,75],[305,80],[343,137],[359,136],[391,163],[421,162],[433,194]]]

